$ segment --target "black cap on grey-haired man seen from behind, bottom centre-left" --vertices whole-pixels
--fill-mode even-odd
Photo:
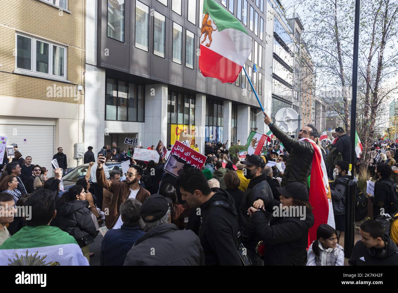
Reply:
[[[153,194],[148,196],[144,203],[142,203],[140,216],[144,222],[153,223],[161,218],[172,207],[172,200],[160,194]],[[153,216],[152,220],[145,220],[145,217]]]

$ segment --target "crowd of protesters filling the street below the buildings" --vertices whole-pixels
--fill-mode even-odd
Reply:
[[[339,238],[345,230],[345,189],[351,171],[349,136],[338,127],[332,132],[333,142],[325,144],[311,124],[295,139],[267,114],[264,122],[277,143],[265,145],[260,154],[240,158],[229,152],[228,141],[205,142],[202,169],[185,163],[178,177],[164,171],[164,159],[136,161],[133,147],[121,149],[114,142],[97,154],[88,147],[86,174],[64,193],[60,185],[67,161],[62,147],[53,157],[59,165],[55,177],[48,178],[48,169],[33,164],[31,156],[23,159],[15,145],[15,157],[4,157],[1,166],[0,206],[11,213],[20,207],[31,210],[29,217],[26,211],[15,217],[0,214],[0,256],[12,259],[20,248],[34,254],[35,246],[29,243],[35,243],[36,234],[53,229],[59,240],[51,238],[55,246],[49,249],[71,241],[80,250],[68,261],[88,265],[93,257],[90,243],[106,227],[101,265],[344,265]],[[330,195],[335,222],[335,227],[320,224],[312,243],[308,177],[315,145],[310,142],[320,147],[328,177],[334,180]],[[396,146],[375,142],[372,147],[369,173],[377,181],[374,195],[367,196],[373,219],[362,222],[362,239],[349,265],[365,265],[365,260],[367,265],[398,264],[398,239],[385,234],[377,221],[382,212],[398,212],[392,191],[398,178]],[[197,145],[194,149],[199,151]],[[130,161],[124,174],[109,171],[105,164],[123,161]],[[361,163],[360,156],[355,166]],[[275,215],[278,208],[298,208],[303,214]],[[17,243],[22,234],[24,243]],[[62,256],[53,258],[53,263],[65,262]]]

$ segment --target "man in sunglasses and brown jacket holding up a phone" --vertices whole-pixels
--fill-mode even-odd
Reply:
[[[103,171],[103,163],[105,163],[105,157],[98,156],[98,167],[96,170],[97,183],[113,193],[109,210],[104,210],[105,225],[108,229],[119,229],[123,224],[119,213],[120,205],[126,199],[137,199],[143,203],[150,196],[150,193],[144,187],[141,187],[139,183],[142,177],[142,168],[139,165],[130,165],[127,173],[125,173],[126,180],[120,182],[115,180],[108,181],[106,179],[105,172]]]

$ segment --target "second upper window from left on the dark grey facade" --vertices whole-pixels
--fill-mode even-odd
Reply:
[[[135,47],[148,52],[149,7],[135,2]]]

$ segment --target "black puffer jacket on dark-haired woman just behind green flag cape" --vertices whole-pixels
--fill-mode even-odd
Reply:
[[[88,209],[88,201],[70,201],[59,208],[59,228],[68,232],[76,240],[98,235],[96,226]]]

